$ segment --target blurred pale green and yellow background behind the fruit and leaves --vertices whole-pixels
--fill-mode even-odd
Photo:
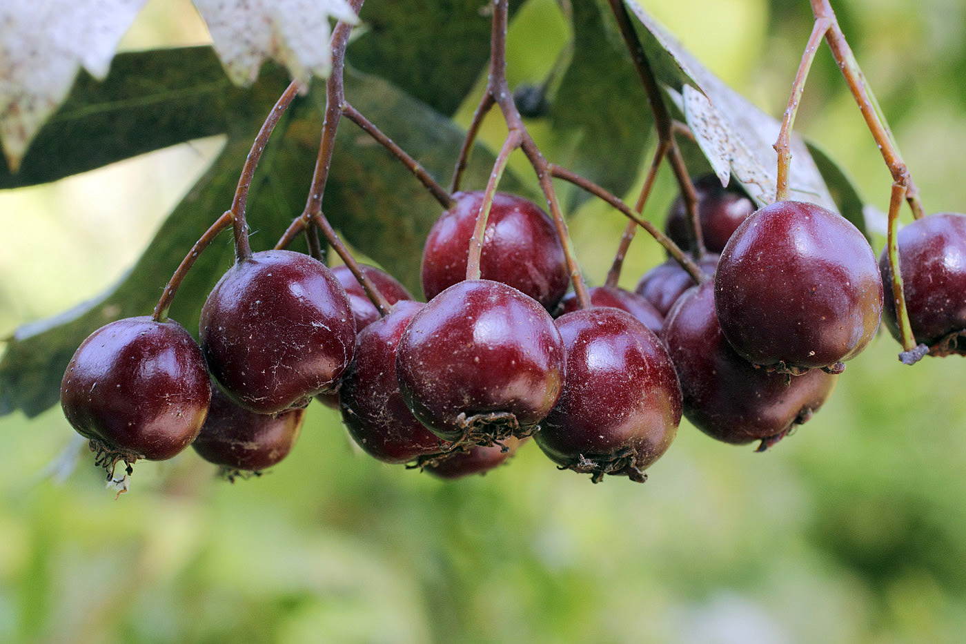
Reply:
[[[781,114],[807,2],[642,4]],[[963,211],[966,6],[834,6],[927,211]],[[511,82],[539,81],[552,65],[567,37],[554,16],[553,0],[518,16],[543,29],[536,40],[511,30]],[[124,46],[205,39],[185,2],[153,0]],[[798,129],[886,209],[889,174],[827,50]],[[0,193],[0,336],[113,282],[219,145]],[[652,220],[673,196],[666,175]],[[622,227],[594,204],[573,218],[592,281]],[[624,285],[660,259],[640,240]],[[89,454],[73,471],[52,466],[76,449],[58,408],[5,417],[0,641],[962,641],[963,363],[900,366],[897,351],[879,337],[822,411],[767,454],[683,423],[643,485],[593,485],[532,445],[486,477],[442,483],[357,453],[337,415],[313,405],[298,448],[266,476],[215,481],[188,451],[138,464],[115,502]]]

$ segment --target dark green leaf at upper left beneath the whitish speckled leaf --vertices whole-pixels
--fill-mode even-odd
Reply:
[[[280,77],[271,66],[264,72]],[[274,82],[272,81],[272,82]],[[71,95],[34,139],[20,170],[0,158],[0,188],[56,181],[192,138],[227,132],[254,117],[211,47],[126,53],[103,82],[78,74]]]

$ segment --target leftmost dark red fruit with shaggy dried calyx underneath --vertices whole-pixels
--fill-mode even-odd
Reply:
[[[77,348],[61,382],[61,406],[112,474],[124,460],[163,460],[201,430],[212,390],[198,344],[173,320],[129,317]]]

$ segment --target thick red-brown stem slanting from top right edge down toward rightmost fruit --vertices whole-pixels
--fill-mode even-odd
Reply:
[[[832,49],[832,55],[838,63],[838,69],[841,71],[842,77],[845,78],[845,83],[848,85],[852,97],[859,104],[859,110],[866,120],[868,131],[875,139],[879,151],[882,153],[882,158],[886,161],[889,172],[893,175],[893,181],[905,186],[905,199],[912,210],[913,217],[921,219],[923,217],[923,205],[919,198],[919,189],[909,175],[905,162],[902,161],[898,146],[895,145],[893,133],[885,123],[878,102],[875,100],[875,95],[868,87],[866,76],[862,73],[859,62],[856,60],[855,54],[852,53],[852,48],[845,41],[845,35],[838,26],[838,19],[835,12],[832,11],[829,0],[810,0],[810,2],[812,14],[815,15],[816,20],[827,18],[830,21],[829,30],[825,34],[825,42]]]

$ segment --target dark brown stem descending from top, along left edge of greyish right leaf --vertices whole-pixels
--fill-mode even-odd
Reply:
[[[697,219],[697,193],[691,181],[691,175],[688,173],[688,168],[684,164],[684,159],[681,157],[681,151],[678,149],[677,143],[674,142],[674,120],[670,117],[668,106],[665,104],[664,97],[661,94],[661,87],[658,84],[657,76],[655,76],[654,70],[651,69],[650,61],[647,59],[643,45],[640,44],[640,39],[634,30],[631,16],[627,14],[627,8],[624,6],[623,0],[610,0],[610,4],[611,14],[617,20],[620,35],[624,39],[624,44],[627,45],[628,51],[631,53],[634,67],[638,71],[640,84],[644,88],[644,93],[647,95],[647,102],[651,107],[651,113],[654,115],[654,128],[658,133],[658,140],[670,145],[668,149],[668,161],[670,162],[671,169],[674,171],[674,178],[677,180],[677,185],[681,190],[681,199],[684,201],[684,208],[688,213],[688,220],[691,222],[692,239],[695,240],[695,256],[700,257],[704,252],[704,236],[701,233],[701,225]]]

